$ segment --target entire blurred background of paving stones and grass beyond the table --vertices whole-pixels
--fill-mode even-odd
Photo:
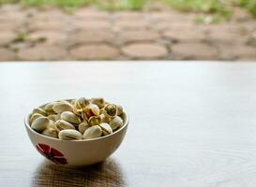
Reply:
[[[256,0],[0,0],[0,61],[256,60]]]

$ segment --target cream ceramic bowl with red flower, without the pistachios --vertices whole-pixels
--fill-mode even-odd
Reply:
[[[47,159],[64,166],[93,165],[104,161],[120,146],[128,129],[128,115],[124,112],[124,125],[111,135],[88,140],[62,140],[34,131],[29,125],[30,116],[26,116],[24,123],[34,147]]]

